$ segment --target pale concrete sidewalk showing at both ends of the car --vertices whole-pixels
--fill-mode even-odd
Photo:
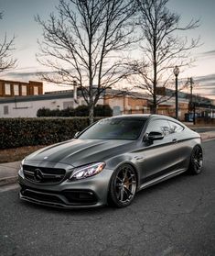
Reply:
[[[215,139],[215,131],[199,133],[202,140]],[[17,182],[20,161],[0,163],[0,186]]]

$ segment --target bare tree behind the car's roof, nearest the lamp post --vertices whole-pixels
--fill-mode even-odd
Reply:
[[[152,113],[159,103],[166,100],[157,95],[157,87],[166,87],[173,75],[173,68],[190,64],[190,50],[199,46],[199,39],[188,41],[179,33],[199,27],[199,20],[191,20],[180,27],[181,17],[170,12],[168,0],[136,0],[140,14],[139,25],[143,31],[144,54],[142,61],[134,61],[132,70],[135,83],[152,98]]]

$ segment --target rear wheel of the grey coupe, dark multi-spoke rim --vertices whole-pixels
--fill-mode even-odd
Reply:
[[[192,150],[188,173],[197,175],[201,173],[203,167],[203,153],[200,146],[195,146]]]

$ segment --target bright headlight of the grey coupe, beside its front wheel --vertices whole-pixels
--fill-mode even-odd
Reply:
[[[91,163],[89,165],[81,166],[79,168],[75,168],[74,171],[70,175],[70,180],[81,180],[87,177],[91,177],[95,174],[101,173],[105,166],[104,162],[96,162]]]

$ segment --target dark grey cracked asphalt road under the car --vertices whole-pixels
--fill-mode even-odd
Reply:
[[[124,209],[58,210],[0,193],[0,255],[215,255],[215,140],[204,170],[136,195]]]

